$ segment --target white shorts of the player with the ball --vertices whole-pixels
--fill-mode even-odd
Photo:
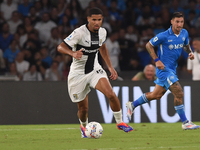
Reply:
[[[108,80],[108,76],[102,68],[88,74],[69,73],[68,92],[72,102],[77,103],[84,100],[90,92],[90,87],[95,88],[101,78]]]

